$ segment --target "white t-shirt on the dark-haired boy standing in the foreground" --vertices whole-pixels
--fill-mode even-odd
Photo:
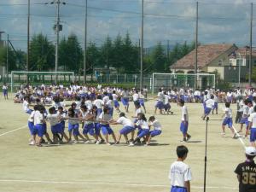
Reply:
[[[182,161],[175,161],[171,165],[169,179],[172,186],[185,187],[184,183],[192,179],[189,166]]]

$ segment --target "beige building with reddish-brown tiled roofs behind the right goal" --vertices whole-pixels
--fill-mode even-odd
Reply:
[[[237,82],[239,65],[241,65],[241,80],[248,71],[249,51],[247,48],[237,48],[235,44],[203,44],[198,46],[198,73],[213,73],[218,71],[220,78],[228,82]],[[253,51],[253,64],[256,64],[256,51]],[[195,72],[195,49],[170,66],[173,73]]]

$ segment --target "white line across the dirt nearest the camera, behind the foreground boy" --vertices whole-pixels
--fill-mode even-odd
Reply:
[[[50,183],[50,184],[100,184],[100,185],[122,185],[122,186],[140,186],[140,187],[163,187],[170,188],[169,185],[165,184],[145,184],[145,183],[104,183],[104,182],[67,182],[67,181],[36,181],[36,180],[19,180],[19,179],[0,179],[0,183],[10,182],[10,183]],[[193,189],[203,189],[200,186],[191,186]],[[207,189],[238,189],[234,187],[217,187],[217,186],[207,186]]]

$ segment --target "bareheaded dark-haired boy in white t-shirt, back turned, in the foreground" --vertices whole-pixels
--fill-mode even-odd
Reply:
[[[172,163],[169,179],[171,180],[171,192],[190,192],[190,181],[192,174],[189,166],[183,163],[189,153],[185,146],[177,146],[177,161]]]

